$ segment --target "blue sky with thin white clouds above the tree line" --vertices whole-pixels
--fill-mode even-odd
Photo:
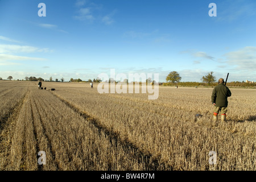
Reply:
[[[255,9],[254,0],[0,0],[0,77],[88,80],[115,69],[256,81]]]

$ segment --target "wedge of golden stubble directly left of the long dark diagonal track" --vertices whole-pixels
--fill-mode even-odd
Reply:
[[[122,166],[118,165],[120,162],[125,163],[124,158],[134,163],[129,169],[149,168],[148,164],[144,164],[142,156],[138,155],[134,148],[123,146],[117,139],[106,135],[102,129],[98,129],[92,123],[89,123],[87,119],[81,117],[79,113],[72,110],[48,91],[35,90],[31,95],[32,113],[36,128],[34,132],[36,132],[38,143],[40,143],[39,135],[43,133],[44,136],[42,138],[46,138],[49,146],[49,151],[46,152],[48,165],[43,166],[43,170],[47,166],[56,166],[58,170],[95,169],[96,166],[97,169],[126,169],[127,167],[123,168],[126,166],[125,164],[122,164]],[[96,140],[95,138],[98,139]],[[86,146],[85,143],[87,143]],[[106,152],[104,147],[109,148],[109,152],[112,155],[122,151],[122,155],[118,154],[120,159],[115,159],[115,157],[110,160],[109,157],[106,157],[109,156],[109,152]],[[40,150],[41,148],[43,147],[40,147]],[[88,148],[90,152],[84,153],[85,148]],[[104,153],[102,154],[102,152]],[[125,154],[129,154],[131,156],[129,157],[130,159]],[[100,155],[102,158],[92,158],[92,155]],[[104,165],[100,166],[97,163]],[[95,164],[97,165],[94,166]]]

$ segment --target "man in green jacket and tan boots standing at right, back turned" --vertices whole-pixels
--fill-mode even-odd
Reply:
[[[214,105],[213,121],[217,121],[218,113],[221,113],[221,122],[226,120],[228,97],[230,96],[231,92],[229,88],[224,85],[223,78],[220,78],[218,80],[218,85],[215,86],[212,91],[212,104]]]

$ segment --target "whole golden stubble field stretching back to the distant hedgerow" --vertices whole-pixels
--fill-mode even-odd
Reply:
[[[0,81],[1,170],[256,170],[255,89],[230,88],[227,121],[213,123],[213,88],[159,86],[148,100],[42,83]]]

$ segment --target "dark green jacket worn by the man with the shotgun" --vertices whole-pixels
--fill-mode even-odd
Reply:
[[[228,107],[228,97],[230,96],[229,88],[223,83],[218,84],[212,90],[212,103],[215,103],[217,107]]]

